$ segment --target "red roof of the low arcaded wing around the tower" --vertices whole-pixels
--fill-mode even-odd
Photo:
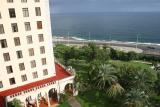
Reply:
[[[5,96],[9,96],[24,90],[28,90],[30,88],[36,87],[36,86],[40,86],[52,81],[56,81],[56,80],[61,80],[64,79],[66,77],[71,76],[64,68],[62,68],[62,66],[60,66],[59,64],[55,63],[55,69],[56,69],[56,76],[51,77],[51,78],[47,78],[47,79],[43,79],[40,81],[36,81],[33,83],[29,83],[23,86],[19,86],[13,89],[9,89],[9,90],[5,90],[0,92],[0,105],[1,105],[1,98],[5,97]]]

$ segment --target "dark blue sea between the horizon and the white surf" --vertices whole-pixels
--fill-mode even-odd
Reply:
[[[80,13],[51,14],[56,36],[76,36],[97,40],[160,43],[160,13]]]

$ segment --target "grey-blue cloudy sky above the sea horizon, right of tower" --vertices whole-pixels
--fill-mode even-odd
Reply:
[[[160,0],[50,0],[52,13],[159,11]]]

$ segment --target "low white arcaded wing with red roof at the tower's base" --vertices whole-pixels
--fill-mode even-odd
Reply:
[[[1,91],[1,107],[6,107],[6,102],[11,102],[15,98],[19,99],[24,107],[29,107],[27,106],[28,103],[30,103],[31,105],[36,105],[36,107],[41,107],[40,100],[42,98],[47,101],[46,104],[49,106],[50,102],[52,102],[50,101],[52,95],[49,95],[52,94],[50,93],[51,90],[55,91],[56,93],[56,96],[54,96],[54,101],[58,101],[58,93],[65,93],[65,88],[67,87],[67,85],[73,84],[74,72],[66,70],[62,67],[62,65],[58,63],[55,64],[55,68],[56,76],[36,81],[30,84],[22,85],[13,89]],[[70,88],[72,88],[73,91],[73,86],[71,86]],[[26,101],[27,99],[28,102]]]

